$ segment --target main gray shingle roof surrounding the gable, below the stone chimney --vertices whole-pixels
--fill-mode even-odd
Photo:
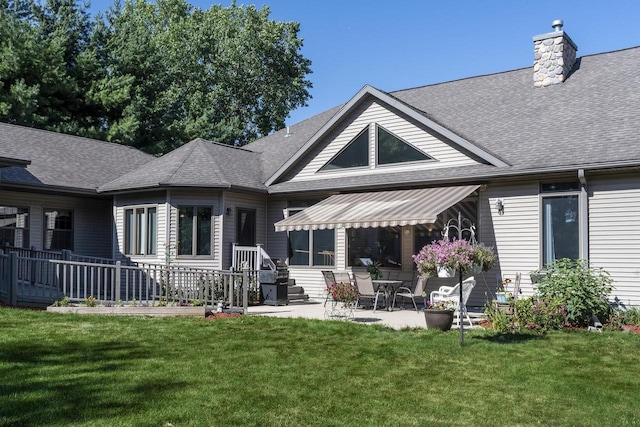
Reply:
[[[509,166],[280,182],[270,186],[269,191],[482,179],[587,165],[593,168],[598,164],[640,165],[638,70],[640,48],[636,47],[579,58],[564,83],[549,87],[534,88],[533,69],[524,68],[392,92],[392,97],[469,143],[494,153]],[[324,113],[302,122],[300,138],[313,135],[336,111],[327,112],[328,117]],[[278,134],[270,138],[274,138],[270,144],[273,151],[285,144],[304,145],[295,131],[286,141]],[[280,159],[281,164],[286,160]],[[277,167],[269,165],[267,170]]]

